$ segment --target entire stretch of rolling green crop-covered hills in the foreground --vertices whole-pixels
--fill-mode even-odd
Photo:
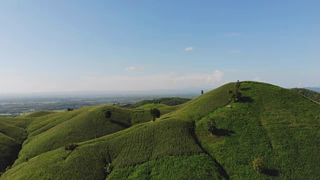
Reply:
[[[27,138],[0,180],[319,177],[320,105],[292,90],[252,81],[241,83],[241,101],[231,103],[227,91],[234,85],[161,107],[154,122],[147,109],[107,105],[24,117],[24,126],[10,122],[25,133],[13,136],[10,131],[18,128],[7,125],[0,150],[14,149],[15,139]],[[111,119],[104,117],[106,110]],[[10,119],[17,117],[0,122]],[[216,124],[212,134],[208,119]],[[70,142],[79,146],[63,150]],[[253,170],[254,158],[263,159],[262,173]]]

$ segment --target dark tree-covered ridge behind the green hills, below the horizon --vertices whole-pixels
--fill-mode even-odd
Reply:
[[[179,105],[179,104],[183,104],[187,101],[189,101],[191,99],[188,99],[188,98],[182,98],[182,97],[161,97],[161,98],[158,98],[158,99],[151,99],[151,100],[141,100],[139,102],[136,102],[135,104],[125,104],[125,105],[122,105],[120,107],[126,107],[126,108],[137,108],[137,107],[140,107],[140,108],[146,108],[146,107],[143,107],[143,105],[145,104],[164,104],[164,105],[169,105],[169,106],[172,106],[172,105]],[[160,107],[160,106],[158,106]]]

